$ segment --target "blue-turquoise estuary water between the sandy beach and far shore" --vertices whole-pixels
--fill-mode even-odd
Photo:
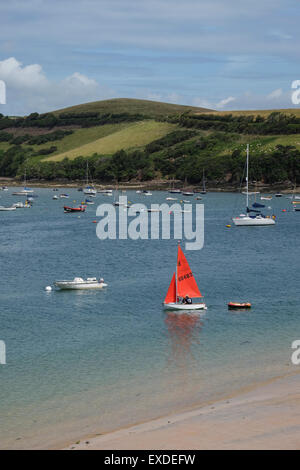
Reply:
[[[11,192],[0,193],[0,205],[20,200]],[[33,208],[0,212],[0,448],[64,445],[296,370],[300,213],[290,200],[267,201],[276,226],[228,229],[243,196],[203,198],[205,245],[186,255],[208,310],[178,315],[161,307],[177,241],[100,241],[97,205],[64,214],[82,196],[61,192],[70,200],[38,189]],[[167,196],[127,194],[147,205]],[[105,292],[44,290],[55,279],[100,275]],[[231,313],[229,300],[253,309]]]

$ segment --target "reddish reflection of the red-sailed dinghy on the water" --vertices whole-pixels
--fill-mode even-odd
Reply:
[[[196,359],[193,347],[200,344],[202,330],[201,314],[168,312],[165,318],[170,341],[169,365],[188,368]]]

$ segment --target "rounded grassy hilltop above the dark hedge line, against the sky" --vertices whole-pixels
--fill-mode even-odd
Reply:
[[[204,113],[209,109],[197,108],[195,106],[182,106],[179,104],[160,103],[158,101],[135,100],[128,98],[116,98],[112,100],[94,101],[92,103],[79,104],[70,108],[59,109],[53,114],[61,113],[129,113],[144,114],[153,117],[166,116],[170,114],[181,114],[187,111]]]

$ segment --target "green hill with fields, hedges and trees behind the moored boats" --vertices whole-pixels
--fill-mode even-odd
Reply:
[[[238,185],[251,148],[251,178],[300,180],[297,109],[216,112],[115,99],[14,120],[0,115],[0,176],[95,181],[177,179]]]

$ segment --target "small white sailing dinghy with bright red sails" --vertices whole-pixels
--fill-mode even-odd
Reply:
[[[203,298],[187,259],[178,245],[176,273],[173,274],[163,306],[166,310],[206,310],[205,303],[192,303]],[[190,303],[188,303],[190,302]]]

